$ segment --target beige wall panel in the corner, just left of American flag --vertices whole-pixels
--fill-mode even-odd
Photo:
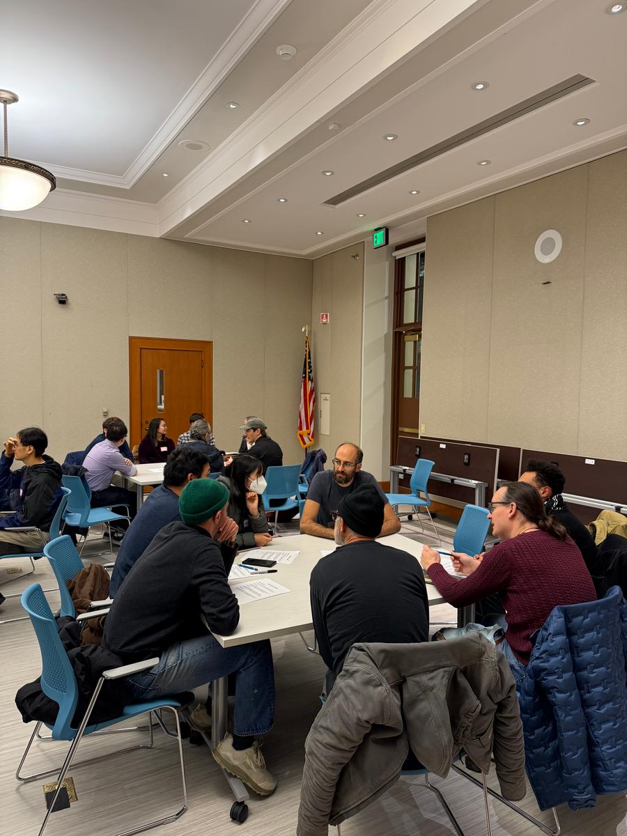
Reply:
[[[283,449],[283,463],[300,464],[298,410],[303,380],[303,325],[311,322],[311,262],[265,256],[265,380],[263,419]],[[315,384],[315,379],[314,379]],[[280,394],[279,394],[280,393]]]

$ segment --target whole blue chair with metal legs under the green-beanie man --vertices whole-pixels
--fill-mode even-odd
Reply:
[[[140,833],[143,830],[154,828],[159,824],[173,822],[177,818],[180,818],[181,815],[185,813],[187,809],[187,790],[185,780],[185,764],[183,762],[183,747],[181,742],[181,726],[179,724],[178,714],[176,713],[177,709],[180,709],[182,707],[181,703],[175,699],[170,699],[168,697],[161,697],[161,699],[153,701],[137,702],[129,706],[125,706],[122,715],[116,717],[115,720],[92,723],[91,725],[89,725],[89,718],[94,711],[94,706],[98,701],[98,697],[100,691],[102,690],[104,682],[118,680],[124,676],[130,676],[139,673],[142,670],[150,670],[150,668],[154,667],[154,665],[156,665],[159,662],[159,660],[149,659],[145,662],[138,662],[135,665],[123,665],[119,668],[105,670],[98,681],[98,685],[95,687],[94,694],[91,697],[91,700],[89,701],[89,706],[87,707],[87,711],[85,711],[83,719],[80,721],[79,726],[74,726],[73,718],[74,711],[76,711],[76,706],[79,701],[79,689],[76,683],[74,670],[69,662],[67,654],[65,653],[64,646],[62,645],[61,640],[59,639],[57,624],[54,620],[52,612],[50,611],[50,607],[48,606],[48,601],[43,596],[43,591],[39,584],[31,584],[28,587],[28,589],[24,591],[22,595],[22,605],[28,613],[28,617],[31,619],[31,622],[33,624],[33,630],[35,631],[35,635],[37,635],[37,640],[39,643],[39,650],[42,658],[42,691],[46,696],[48,696],[49,699],[53,700],[59,705],[59,713],[57,715],[56,721],[54,722],[54,725],[50,725],[48,723],[43,724],[41,721],[38,721],[38,723],[35,724],[33,734],[31,735],[30,740],[28,741],[28,745],[18,765],[18,771],[16,772],[16,777],[18,778],[18,781],[35,781],[38,780],[38,778],[47,775],[54,775],[57,772],[56,769],[52,769],[47,770],[46,772],[38,772],[37,774],[27,776],[22,776],[20,774],[23,764],[28,756],[28,751],[31,745],[33,744],[33,740],[38,734],[39,728],[42,725],[46,725],[48,729],[51,730],[53,740],[71,741],[69,752],[65,757],[63,766],[61,767],[61,771],[59,772],[59,777],[57,780],[57,790],[54,793],[54,798],[49,804],[48,811],[45,817],[43,818],[43,824],[41,826],[41,829],[39,830],[39,836],[42,836],[43,831],[46,828],[46,825],[48,824],[48,818],[50,817],[50,813],[54,810],[54,805],[56,804],[57,798],[59,797],[59,792],[63,788],[62,785],[64,782],[64,778],[67,775],[69,767],[74,759],[74,754],[76,753],[76,750],[79,747],[79,743],[81,742],[84,735],[89,735],[93,732],[98,732],[100,729],[108,728],[109,726],[114,726],[116,723],[121,723],[126,720],[130,720],[133,717],[139,716],[140,714],[150,713],[153,711],[171,711],[171,713],[174,715],[174,719],[176,722],[176,737],[178,738],[179,760],[181,763],[181,784],[183,789],[184,803],[183,806],[176,811],[176,813],[171,813],[171,815],[166,816],[165,818],[160,818],[158,820],[142,824],[138,828],[127,830],[126,833]],[[150,717],[150,719],[152,718]],[[149,722],[149,734],[150,742],[148,744],[139,744],[133,747],[127,747],[125,749],[118,750],[113,754],[119,754],[120,752],[130,752],[131,749],[151,748],[153,745],[153,726],[151,721]],[[85,761],[84,763],[102,760],[104,757],[111,756],[104,755],[100,757],[90,758],[89,761]],[[80,762],[75,764],[75,766],[77,767],[79,765],[81,765]]]

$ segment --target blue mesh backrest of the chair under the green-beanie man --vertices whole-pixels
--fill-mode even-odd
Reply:
[[[79,701],[79,691],[74,670],[59,639],[57,623],[39,584],[31,584],[24,590],[22,606],[28,613],[39,643],[42,691],[59,704],[53,737],[55,740],[71,740],[74,732],[70,722]]]

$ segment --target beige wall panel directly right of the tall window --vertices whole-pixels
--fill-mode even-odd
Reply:
[[[425,434],[487,441],[494,198],[429,218],[421,362]]]

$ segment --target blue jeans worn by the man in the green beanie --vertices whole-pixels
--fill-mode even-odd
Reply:
[[[137,700],[191,691],[235,671],[233,731],[254,737],[274,721],[273,654],[268,640],[222,647],[211,634],[181,641],[161,654],[159,664],[128,680]]]

